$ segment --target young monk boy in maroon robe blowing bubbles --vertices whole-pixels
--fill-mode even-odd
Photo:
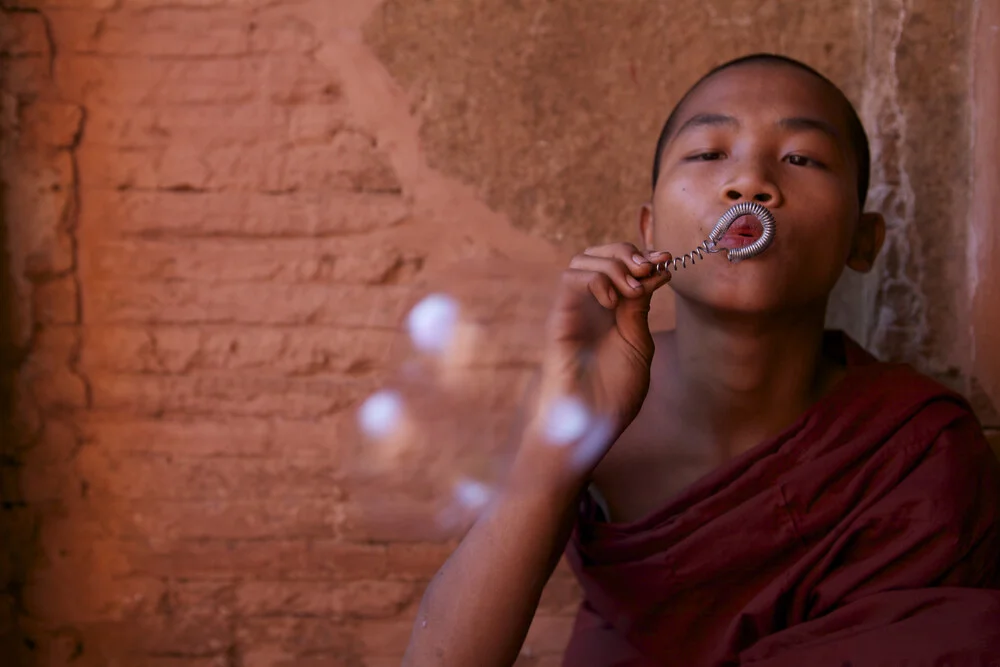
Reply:
[[[798,62],[694,86],[657,148],[643,248],[563,274],[535,417],[405,664],[512,664],[564,550],[585,594],[567,665],[1000,664],[1000,473],[976,418],[824,331],[841,271],[882,244],[868,159],[845,96]],[[656,270],[743,201],[776,219],[763,254]],[[743,219],[720,245],[757,234]],[[676,330],[654,338],[668,281]],[[567,398],[591,420],[568,443],[549,429]]]

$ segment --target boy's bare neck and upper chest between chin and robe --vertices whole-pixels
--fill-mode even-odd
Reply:
[[[673,360],[681,414],[727,456],[789,426],[832,382],[826,304],[767,315],[720,313],[678,297]]]

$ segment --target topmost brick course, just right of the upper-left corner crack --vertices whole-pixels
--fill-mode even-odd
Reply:
[[[250,47],[251,19],[238,9],[49,10],[46,15],[60,53],[236,56]]]

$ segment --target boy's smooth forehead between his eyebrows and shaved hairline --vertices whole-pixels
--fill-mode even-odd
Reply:
[[[745,63],[705,79],[679,109],[681,127],[692,116],[718,113],[740,120],[808,117],[849,135],[847,102],[826,81],[783,63]]]

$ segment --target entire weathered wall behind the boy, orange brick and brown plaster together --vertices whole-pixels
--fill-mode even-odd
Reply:
[[[481,285],[517,342],[544,281],[449,265],[634,238],[671,104],[747,51],[827,71],[872,134],[891,235],[833,321],[997,391],[972,0],[0,6],[3,664],[398,664],[450,546],[346,462],[406,309]],[[498,411],[532,340],[477,371]],[[519,664],[556,664],[573,602],[560,573]]]

